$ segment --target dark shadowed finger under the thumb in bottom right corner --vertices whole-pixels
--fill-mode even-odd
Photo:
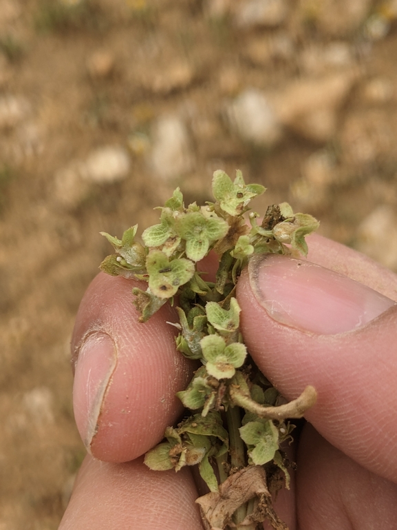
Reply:
[[[394,530],[397,485],[356,464],[306,425],[298,451],[301,530]]]

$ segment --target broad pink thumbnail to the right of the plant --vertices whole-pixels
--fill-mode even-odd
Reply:
[[[288,256],[254,256],[248,274],[255,298],[274,320],[315,334],[351,331],[395,304],[347,276]]]

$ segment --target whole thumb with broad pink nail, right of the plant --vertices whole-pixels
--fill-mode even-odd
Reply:
[[[339,260],[343,252],[341,246]],[[355,254],[350,267],[359,269],[361,259],[367,258]],[[237,298],[246,345],[264,374],[288,398],[313,385],[318,400],[306,418],[317,431],[397,481],[394,300],[330,269],[275,254],[253,258]]]

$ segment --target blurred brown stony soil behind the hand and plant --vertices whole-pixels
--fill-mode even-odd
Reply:
[[[85,451],[69,339],[121,236],[241,169],[397,270],[397,1],[0,0],[0,530]]]

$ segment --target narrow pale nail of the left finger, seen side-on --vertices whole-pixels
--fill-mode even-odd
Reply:
[[[78,353],[73,385],[74,418],[89,452],[116,361],[116,345],[104,332],[89,334]]]

